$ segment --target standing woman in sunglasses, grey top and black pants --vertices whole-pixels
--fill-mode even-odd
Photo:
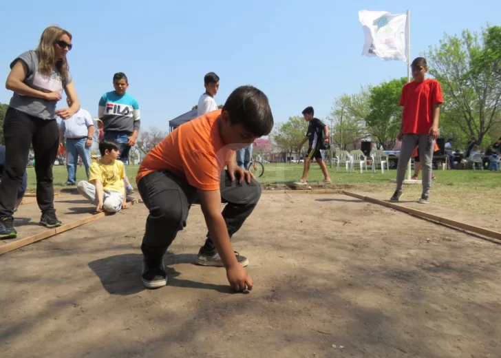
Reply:
[[[65,120],[80,109],[66,59],[71,49],[70,32],[50,26],[43,31],[36,50],[23,52],[10,64],[6,87],[14,94],[3,120],[6,162],[0,182],[0,239],[17,235],[12,215],[30,145],[35,158],[36,202],[42,211],[40,224],[61,226],[54,209],[52,165],[59,146],[56,117]],[[63,89],[72,106],[56,110]]]

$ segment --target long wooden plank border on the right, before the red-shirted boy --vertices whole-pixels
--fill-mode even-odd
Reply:
[[[351,193],[350,191],[345,191],[344,193],[345,195],[351,196],[352,198],[365,200],[367,202],[372,202],[373,204],[379,204],[382,205],[383,207],[402,211],[403,213],[416,215],[420,218],[425,218],[428,220],[433,220],[434,222],[438,222],[439,224],[447,225],[449,227],[454,227],[460,230],[470,231],[471,233],[476,233],[478,235],[487,236],[487,238],[501,241],[501,233],[498,231],[485,229],[483,227],[476,227],[475,225],[466,224],[465,222],[458,222],[456,220],[444,218],[443,216],[438,216],[430,213],[425,213],[424,211],[403,207],[401,205],[394,204],[392,202],[385,202],[383,200],[370,198],[369,196],[361,196],[360,194]]]

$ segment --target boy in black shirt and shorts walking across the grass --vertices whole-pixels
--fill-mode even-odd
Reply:
[[[295,185],[307,185],[306,179],[308,178],[308,171],[310,171],[310,160],[315,158],[320,165],[320,169],[323,173],[323,184],[330,184],[331,180],[329,173],[327,172],[326,163],[323,162],[321,149],[327,149],[327,144],[329,143],[329,128],[322,123],[318,118],[313,117],[314,111],[313,107],[306,107],[303,110],[303,117],[306,122],[308,122],[308,131],[306,136],[297,146],[296,151],[299,151],[304,143],[308,140],[308,151],[306,152],[306,157],[304,158],[304,169],[303,176]]]

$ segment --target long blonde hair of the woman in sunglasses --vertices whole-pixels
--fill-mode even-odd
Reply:
[[[43,30],[42,36],[40,36],[39,45],[35,50],[36,56],[39,57],[39,72],[41,74],[47,76],[52,74],[52,67],[54,65],[54,45],[64,34],[70,37],[70,40],[72,39],[72,34],[59,26],[49,26]],[[56,63],[56,68],[61,75],[61,79],[66,81],[68,77],[68,62],[66,56]]]

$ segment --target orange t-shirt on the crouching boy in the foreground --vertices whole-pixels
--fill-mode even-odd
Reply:
[[[192,187],[220,189],[220,175],[233,151],[217,128],[221,109],[209,112],[174,129],[142,160],[136,183],[153,171],[171,171]]]

